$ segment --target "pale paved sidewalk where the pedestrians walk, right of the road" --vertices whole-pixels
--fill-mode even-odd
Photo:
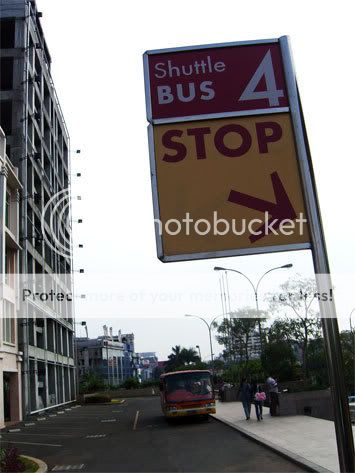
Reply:
[[[240,402],[218,402],[213,417],[315,471],[340,471],[333,422],[310,416],[271,417],[268,408],[263,411],[264,420],[258,422],[252,406],[247,421]]]

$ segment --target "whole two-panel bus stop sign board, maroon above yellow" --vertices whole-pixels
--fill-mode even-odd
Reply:
[[[144,55],[158,257],[310,248],[279,40]]]

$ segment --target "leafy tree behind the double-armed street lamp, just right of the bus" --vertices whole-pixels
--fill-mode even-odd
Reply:
[[[231,313],[218,327],[216,339],[225,346],[224,357],[229,360],[245,361],[250,359],[250,339],[260,320],[260,311],[245,307]]]

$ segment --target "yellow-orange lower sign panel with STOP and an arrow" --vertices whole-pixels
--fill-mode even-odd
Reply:
[[[289,114],[157,125],[153,136],[163,260],[307,246]]]

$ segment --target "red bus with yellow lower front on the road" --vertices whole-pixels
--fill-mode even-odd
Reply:
[[[190,370],[162,374],[160,400],[165,417],[215,414],[211,373],[208,370]]]

